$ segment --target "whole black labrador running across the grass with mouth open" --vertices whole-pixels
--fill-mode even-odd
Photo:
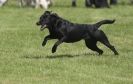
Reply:
[[[103,54],[103,51],[97,47],[97,41],[103,43],[115,55],[118,55],[118,52],[110,44],[105,33],[102,30],[98,30],[101,25],[112,24],[114,22],[115,20],[102,20],[95,24],[77,24],[59,17],[56,13],[45,11],[36,24],[41,26],[41,31],[47,28],[50,33],[44,38],[42,46],[50,39],[58,39],[52,48],[52,53],[56,52],[57,47],[63,42],[73,43],[83,39],[85,40],[86,46],[98,52],[99,55]]]

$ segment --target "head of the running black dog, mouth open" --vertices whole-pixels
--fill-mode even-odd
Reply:
[[[45,28],[49,28],[53,24],[55,24],[57,17],[58,16],[55,13],[45,11],[44,14],[41,15],[39,21],[36,24],[38,26],[41,26],[40,30],[43,31]]]

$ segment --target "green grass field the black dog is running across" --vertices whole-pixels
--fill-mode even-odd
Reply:
[[[78,0],[55,0],[49,10],[76,23],[95,23],[116,19],[102,26],[119,56],[102,44],[104,54],[87,49],[84,41],[61,44],[55,54],[56,40],[41,46],[48,30],[35,25],[43,9],[19,8],[14,0],[0,8],[0,84],[133,84],[133,6],[117,5],[111,9],[85,8]]]

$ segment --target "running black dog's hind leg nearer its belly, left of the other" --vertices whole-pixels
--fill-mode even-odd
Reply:
[[[96,40],[85,39],[85,44],[86,44],[86,46],[87,46],[89,49],[98,52],[99,55],[102,55],[102,54],[103,54],[103,51],[97,47],[96,43],[97,43]]]

